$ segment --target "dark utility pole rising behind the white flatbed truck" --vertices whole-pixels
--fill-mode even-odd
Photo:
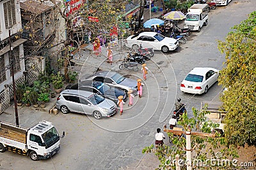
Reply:
[[[16,88],[15,88],[15,79],[14,79],[14,57],[13,57],[13,48],[12,48],[12,41],[11,41],[11,30],[9,29],[9,44],[10,44],[10,56],[11,57],[11,72],[12,72],[12,88],[13,88],[13,98],[14,98],[14,110],[15,110],[15,120],[16,126],[19,127],[19,115],[18,115],[18,106],[17,106],[17,99],[16,99]]]

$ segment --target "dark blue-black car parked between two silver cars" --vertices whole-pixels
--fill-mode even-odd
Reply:
[[[102,83],[101,81],[92,81],[92,80],[79,81],[78,83],[67,85],[66,89],[84,90],[88,92],[93,92],[95,94],[99,94],[99,96],[105,97],[107,99],[111,99],[115,103],[117,103],[118,101],[117,99],[118,96],[124,96],[124,101],[127,101],[127,96],[124,90],[111,87],[106,83]]]

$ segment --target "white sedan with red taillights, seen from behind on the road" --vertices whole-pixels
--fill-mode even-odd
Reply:
[[[180,90],[191,94],[207,93],[218,81],[219,70],[210,67],[195,67],[180,84]]]

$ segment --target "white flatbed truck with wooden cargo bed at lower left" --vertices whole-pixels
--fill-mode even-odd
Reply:
[[[45,120],[29,129],[0,122],[0,152],[6,150],[29,155],[32,160],[47,159],[60,150],[60,136]]]

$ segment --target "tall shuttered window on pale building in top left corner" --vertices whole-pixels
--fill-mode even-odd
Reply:
[[[10,27],[16,24],[14,0],[10,0],[4,3],[4,22],[6,29],[9,29]]]

